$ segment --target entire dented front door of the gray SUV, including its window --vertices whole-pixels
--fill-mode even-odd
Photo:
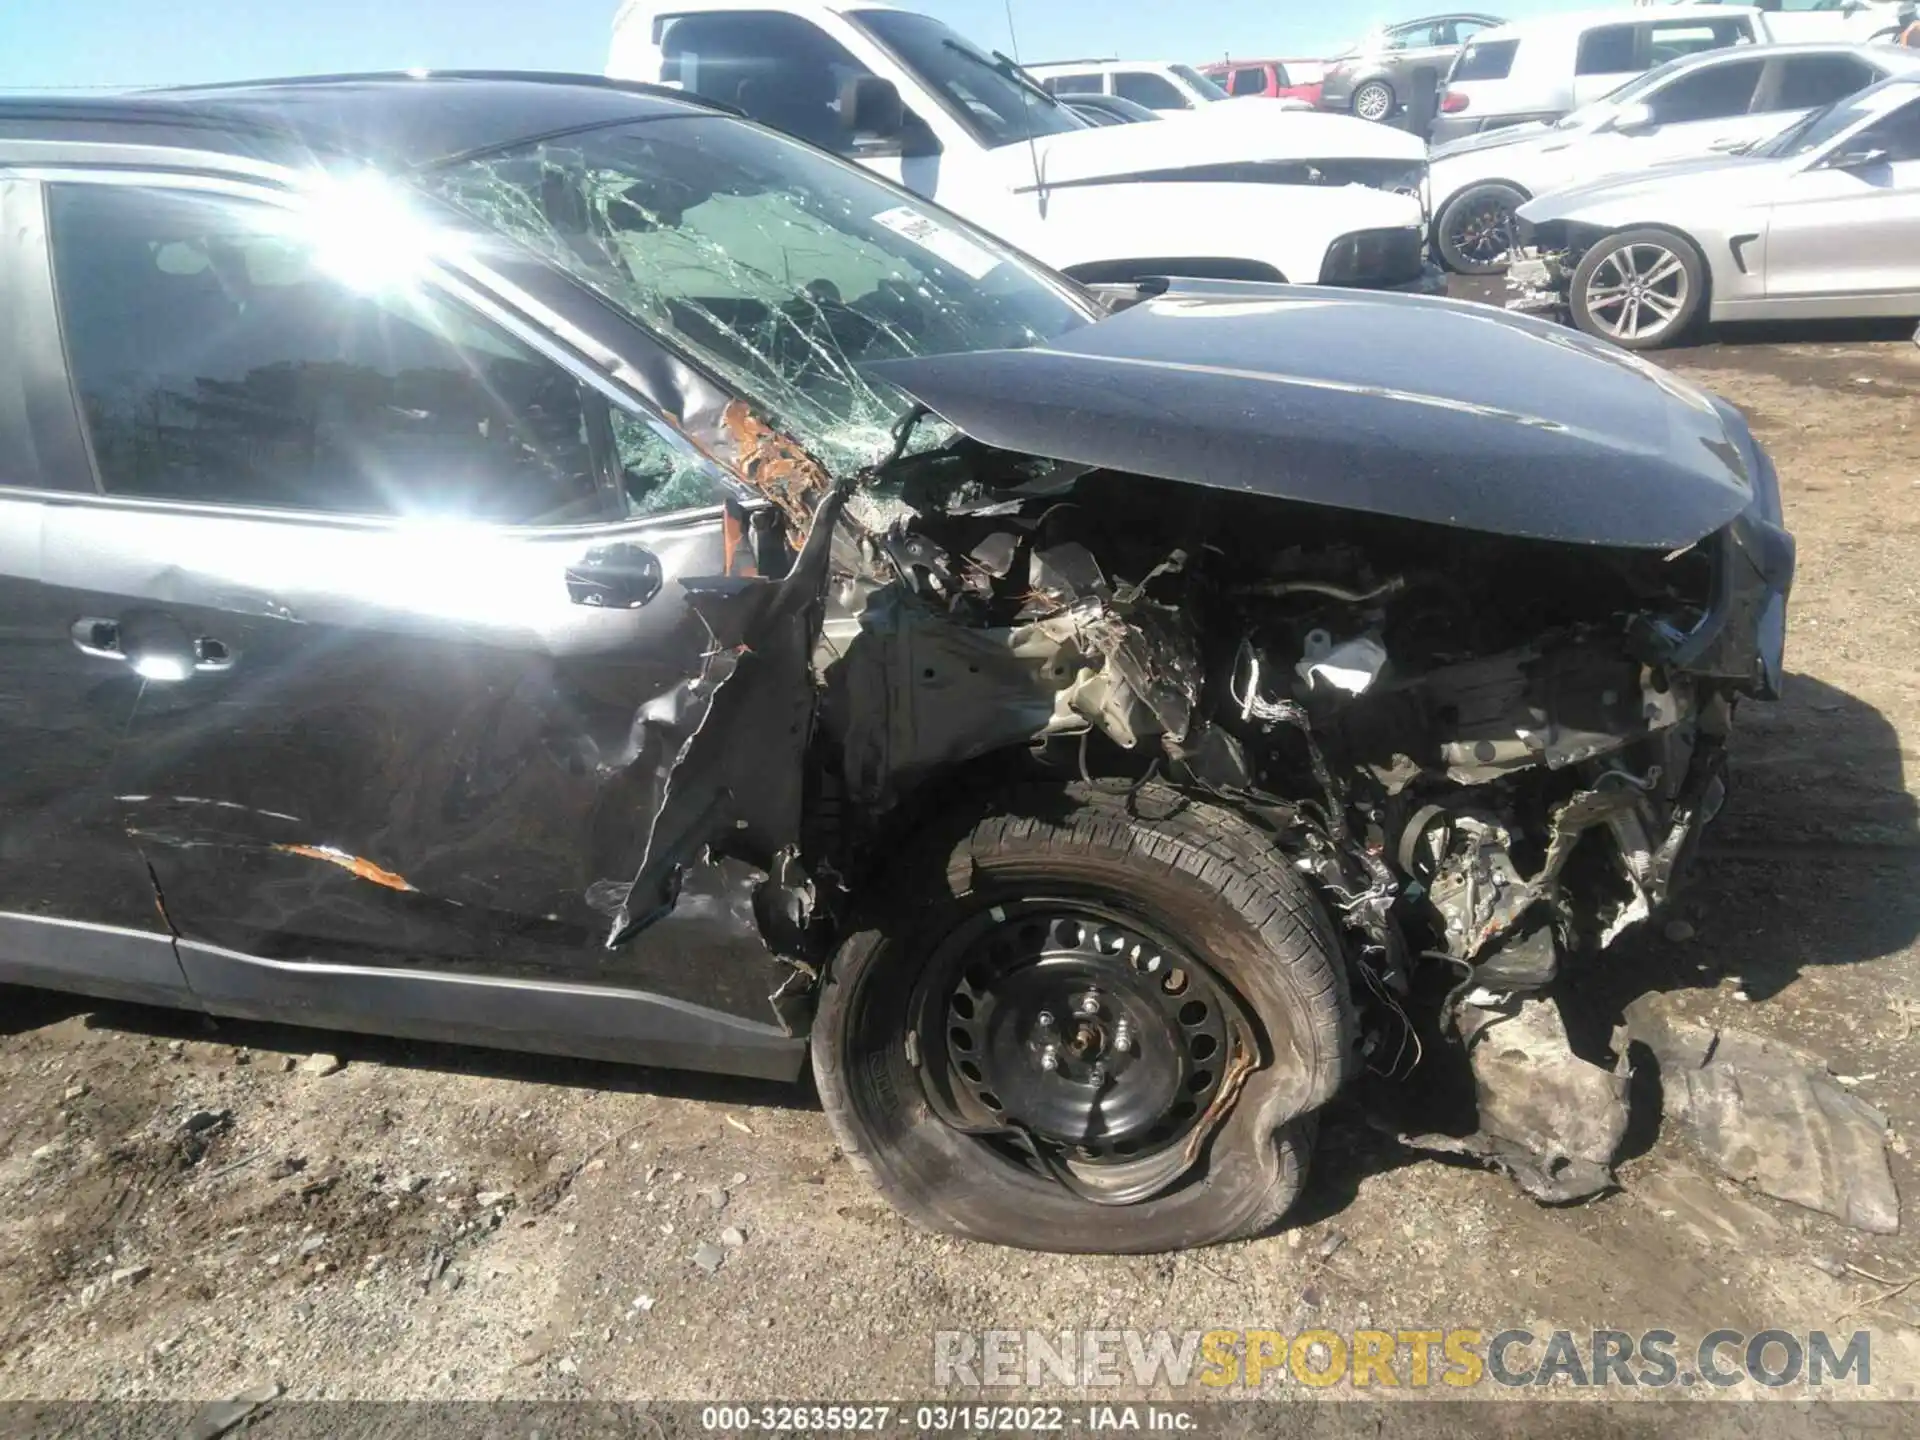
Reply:
[[[115,177],[50,221],[102,493],[48,511],[42,582],[125,678],[111,828],[194,989],[334,1021],[315,975],[440,972],[770,1023],[753,870],[676,870],[657,924],[611,900],[726,662],[689,582],[770,586],[726,580],[720,467],[265,205]]]

